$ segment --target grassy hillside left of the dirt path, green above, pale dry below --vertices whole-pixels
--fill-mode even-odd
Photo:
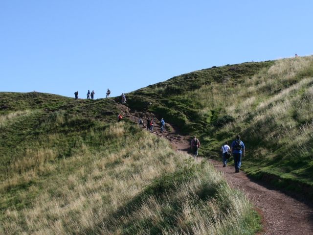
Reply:
[[[117,123],[120,109],[108,99],[0,93],[0,234],[259,229],[252,205],[211,165],[127,118]]]

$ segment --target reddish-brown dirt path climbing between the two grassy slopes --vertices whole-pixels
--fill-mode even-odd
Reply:
[[[124,106],[125,107],[125,106]],[[122,108],[122,107],[121,107]],[[144,123],[147,118],[155,118],[150,113],[131,113],[123,108],[125,117],[137,122],[142,117]],[[155,118],[156,120],[156,118]],[[165,120],[166,121],[166,120]],[[173,148],[178,151],[187,151],[189,148],[189,137],[179,135],[176,128],[170,127],[170,132],[159,133],[158,121],[154,134],[168,139]],[[145,126],[143,126],[144,128]],[[199,158],[200,161],[202,158]],[[208,160],[216,170],[224,172],[228,184],[245,192],[246,197],[255,205],[256,210],[263,216],[263,235],[313,235],[313,208],[300,202],[285,193],[280,192],[263,182],[252,181],[245,173],[234,173],[233,166],[222,167],[222,161]],[[245,160],[243,161],[245,164]]]

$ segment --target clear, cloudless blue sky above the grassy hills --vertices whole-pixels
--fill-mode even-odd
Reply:
[[[313,54],[312,0],[0,0],[0,92],[120,95]]]

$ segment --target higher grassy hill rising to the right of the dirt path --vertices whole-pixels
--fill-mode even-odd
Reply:
[[[218,159],[237,134],[249,175],[313,196],[313,57],[212,67],[128,95],[128,105],[200,136]]]

